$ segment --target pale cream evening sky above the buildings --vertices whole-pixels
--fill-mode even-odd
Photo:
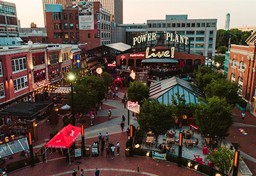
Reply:
[[[4,1],[16,4],[22,28],[31,22],[44,27],[42,0]],[[255,6],[255,0],[124,0],[124,24],[188,14],[188,19],[218,19],[217,28],[221,29],[230,13],[230,28],[256,26]]]

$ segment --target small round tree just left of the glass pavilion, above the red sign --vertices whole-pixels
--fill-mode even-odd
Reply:
[[[132,102],[138,101],[139,104],[141,104],[143,99],[148,99],[149,88],[143,83],[134,81],[133,83],[130,83],[127,93],[129,100],[131,100]]]

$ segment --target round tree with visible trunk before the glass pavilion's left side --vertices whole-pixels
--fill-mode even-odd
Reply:
[[[166,134],[173,127],[174,118],[172,114],[172,108],[169,105],[161,104],[155,99],[150,101],[145,100],[138,115],[140,129],[142,131],[148,131],[150,129],[154,132],[157,140],[159,135]]]

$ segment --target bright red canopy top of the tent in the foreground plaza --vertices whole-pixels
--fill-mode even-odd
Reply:
[[[47,148],[70,148],[81,134],[81,127],[67,125],[56,134],[45,147]]]

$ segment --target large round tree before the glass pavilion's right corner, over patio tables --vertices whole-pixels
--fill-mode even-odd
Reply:
[[[196,125],[205,136],[228,136],[228,129],[233,124],[232,106],[226,99],[207,98],[207,104],[200,102],[196,108]]]

